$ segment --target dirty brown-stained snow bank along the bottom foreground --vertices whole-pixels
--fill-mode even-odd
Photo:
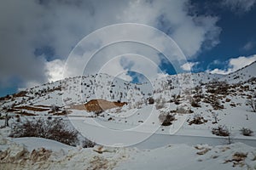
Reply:
[[[46,149],[38,148],[37,143],[43,144]],[[32,138],[27,142],[22,139],[0,139],[0,150],[0,169],[256,168],[256,149],[242,143],[213,147],[207,144],[169,144],[154,150],[102,146],[79,149]]]

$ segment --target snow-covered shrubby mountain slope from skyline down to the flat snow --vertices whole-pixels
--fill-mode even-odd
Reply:
[[[143,124],[143,131],[160,127],[157,133],[209,137],[215,136],[212,127],[226,125],[236,138],[244,138],[241,127],[256,129],[248,105],[256,97],[255,66],[226,76],[185,73],[140,84],[106,74],[69,77],[5,96],[0,111],[10,116],[90,116],[114,129]],[[100,109],[89,111],[89,106]]]

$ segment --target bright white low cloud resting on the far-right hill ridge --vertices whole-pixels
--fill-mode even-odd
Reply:
[[[225,75],[225,74],[229,74],[231,72],[237,71],[246,65],[250,65],[255,60],[256,60],[256,54],[248,56],[248,57],[241,56],[238,58],[232,58],[232,59],[229,59],[229,65],[228,65],[229,68],[228,69],[226,69],[226,70],[214,69],[212,71],[207,70],[207,72],[210,72],[212,74],[224,74]]]

